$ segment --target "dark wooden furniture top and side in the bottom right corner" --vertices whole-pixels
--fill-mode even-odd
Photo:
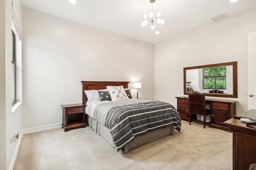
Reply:
[[[256,110],[251,109],[241,116],[256,116]],[[233,170],[248,170],[250,164],[256,163],[256,129],[249,127],[239,118],[224,122],[233,132]]]

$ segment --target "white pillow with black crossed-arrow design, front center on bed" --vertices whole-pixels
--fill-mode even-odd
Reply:
[[[124,91],[124,86],[107,86],[107,89],[113,102],[129,99]]]

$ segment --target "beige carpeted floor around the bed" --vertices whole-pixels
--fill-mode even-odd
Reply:
[[[182,121],[180,133],[116,152],[90,127],[24,135],[14,170],[231,170],[232,133]]]

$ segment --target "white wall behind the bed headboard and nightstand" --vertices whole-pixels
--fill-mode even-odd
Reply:
[[[62,123],[62,104],[82,103],[87,81],[142,82],[154,99],[154,45],[23,8],[24,129]]]

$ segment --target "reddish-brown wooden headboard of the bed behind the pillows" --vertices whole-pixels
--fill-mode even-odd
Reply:
[[[129,82],[100,82],[100,81],[81,81],[82,82],[82,96],[83,104],[86,104],[87,97],[84,90],[102,90],[106,89],[106,86],[124,86],[128,88]]]

